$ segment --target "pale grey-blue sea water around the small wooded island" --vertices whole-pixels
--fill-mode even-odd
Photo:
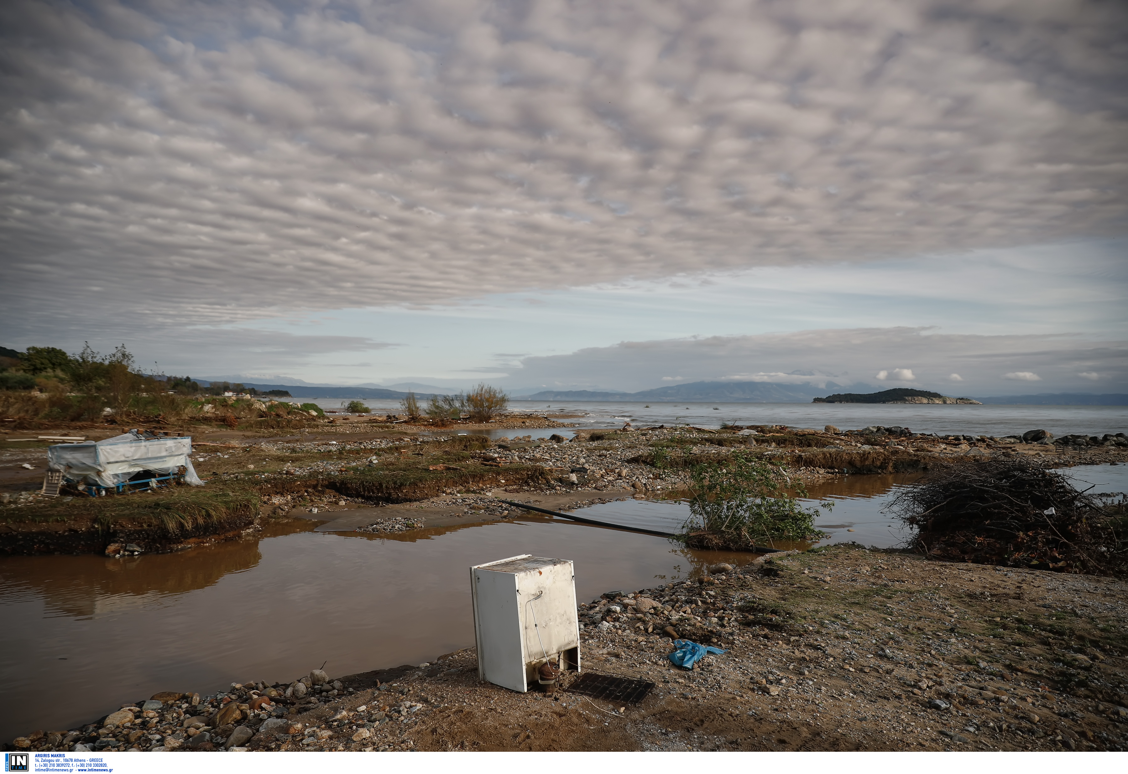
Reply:
[[[314,401],[323,408],[340,408],[341,401]],[[373,411],[397,413],[398,401],[364,401]],[[517,411],[566,412],[583,428],[637,425],[786,424],[818,428],[832,424],[858,430],[871,424],[900,425],[915,432],[964,436],[1012,436],[1048,430],[1055,436],[1128,432],[1128,406],[954,406],[873,405],[860,403],[599,403],[512,401]],[[512,433],[513,431],[508,431]],[[532,431],[525,431],[530,433]],[[553,432],[553,431],[549,431]],[[505,434],[505,432],[492,434]],[[536,433],[534,433],[536,434]]]

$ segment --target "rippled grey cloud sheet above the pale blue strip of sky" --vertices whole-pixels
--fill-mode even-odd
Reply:
[[[1119,235],[1126,23],[1065,0],[9,0],[6,316],[214,325]]]

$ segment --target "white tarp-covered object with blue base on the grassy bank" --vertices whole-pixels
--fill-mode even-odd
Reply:
[[[47,466],[62,470],[67,481],[115,486],[140,470],[161,475],[185,467],[184,481],[203,486],[192,467],[192,438],[144,438],[134,432],[94,443],[61,443],[47,447]]]

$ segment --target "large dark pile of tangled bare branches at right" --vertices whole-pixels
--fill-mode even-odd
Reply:
[[[1067,477],[1024,459],[941,469],[887,510],[915,528],[914,546],[953,562],[1123,575],[1122,518]]]

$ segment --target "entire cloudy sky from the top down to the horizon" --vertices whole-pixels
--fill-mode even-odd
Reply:
[[[9,0],[0,344],[1126,392],[1126,30],[1067,0]]]

